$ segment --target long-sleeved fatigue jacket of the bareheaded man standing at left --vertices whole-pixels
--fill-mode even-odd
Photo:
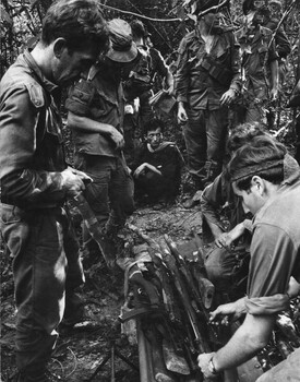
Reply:
[[[25,51],[0,85],[1,202],[23,208],[51,207],[64,201],[58,87]],[[57,102],[56,102],[57,100]]]

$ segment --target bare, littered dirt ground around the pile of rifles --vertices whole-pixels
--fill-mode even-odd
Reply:
[[[180,202],[158,211],[153,206],[140,206],[129,223],[157,238],[168,234],[173,241],[189,240],[192,229],[201,232],[199,206],[187,210]],[[122,239],[128,248],[132,244],[132,232],[124,229]],[[130,249],[129,249],[130,250]],[[3,252],[3,251],[2,251]],[[13,301],[12,259],[1,255],[1,380],[8,382],[15,374],[14,333],[15,307]],[[85,318],[73,329],[60,330],[60,336],[49,369],[53,381],[111,381],[111,368],[116,369],[116,381],[139,382],[140,373],[129,363],[139,368],[137,346],[130,345],[121,334],[118,320],[123,305],[123,271],[111,272],[101,259],[85,270],[86,283],[79,290],[84,301]],[[115,362],[111,363],[111,349]],[[122,360],[119,353],[125,357]],[[105,360],[104,367],[99,367]],[[127,362],[129,361],[129,363]]]

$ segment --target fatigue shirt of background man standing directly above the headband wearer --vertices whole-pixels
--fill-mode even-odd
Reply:
[[[240,91],[240,60],[239,46],[231,32],[214,36],[209,59],[211,68],[201,64],[206,57],[205,41],[199,31],[188,34],[180,43],[177,72],[175,75],[175,91],[178,102],[183,102],[192,109],[220,108],[219,99],[229,87]],[[228,83],[220,83],[208,74],[214,71],[214,63],[218,63],[220,77],[228,75]],[[221,74],[223,72],[223,74]]]

